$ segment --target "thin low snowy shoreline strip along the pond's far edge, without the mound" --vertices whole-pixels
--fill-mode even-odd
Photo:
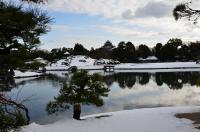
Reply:
[[[88,65],[79,63],[76,66],[80,70],[88,70],[88,71],[104,71],[104,65]],[[46,67],[47,72],[53,71],[60,71],[65,72],[69,71],[69,67]],[[200,65],[196,64],[195,62],[168,62],[168,63],[122,63],[119,65],[114,65],[114,72],[149,72],[149,73],[156,73],[156,72],[190,72],[190,71],[200,71]],[[108,72],[109,73],[109,72]],[[39,76],[46,76],[46,73],[41,73],[41,70],[36,72],[21,72],[15,70],[14,78],[28,78],[28,77],[39,77]]]

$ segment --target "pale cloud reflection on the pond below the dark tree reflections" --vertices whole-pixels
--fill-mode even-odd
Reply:
[[[174,91],[170,90],[165,83],[158,88],[157,84],[150,80],[148,86],[136,83],[133,89],[134,90],[123,90],[120,92],[114,91],[113,94],[110,95],[110,98],[116,99],[116,102],[120,101],[129,106],[174,106],[200,103],[200,99],[198,98],[200,90],[196,86],[191,86],[189,88],[185,86],[181,90]],[[120,97],[123,97],[123,99]],[[120,105],[120,103],[116,105]]]

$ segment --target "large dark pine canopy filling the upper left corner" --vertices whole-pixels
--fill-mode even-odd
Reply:
[[[41,3],[44,0],[22,0]],[[49,30],[52,19],[38,9],[0,0],[0,65],[1,70],[23,66],[29,51],[40,44],[40,36]]]

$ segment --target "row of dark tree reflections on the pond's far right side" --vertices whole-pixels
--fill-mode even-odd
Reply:
[[[126,87],[131,89],[136,83],[148,85],[149,81],[153,79],[157,86],[162,86],[165,83],[170,89],[181,89],[183,84],[198,85],[199,78],[199,72],[114,73],[105,75],[104,82],[108,87],[117,82],[122,89]]]

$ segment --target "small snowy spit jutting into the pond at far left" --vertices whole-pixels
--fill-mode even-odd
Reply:
[[[26,72],[21,72],[19,70],[15,70],[15,78],[26,78],[26,77],[37,77],[41,76],[42,73],[37,73],[37,72],[31,72],[31,71],[26,71]]]

